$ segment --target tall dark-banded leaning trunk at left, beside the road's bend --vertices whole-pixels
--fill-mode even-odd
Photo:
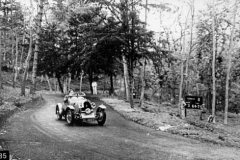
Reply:
[[[38,53],[39,53],[39,43],[40,43],[40,33],[41,33],[41,23],[42,23],[42,14],[43,14],[43,1],[40,0],[39,4],[39,12],[38,12],[38,19],[37,19],[37,33],[36,33],[36,44],[34,50],[34,58],[33,58],[33,69],[32,69],[32,91],[31,93],[35,93],[36,90],[36,75],[37,75],[37,61],[38,61]]]

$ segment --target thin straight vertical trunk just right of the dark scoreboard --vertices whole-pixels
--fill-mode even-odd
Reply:
[[[216,35],[215,35],[215,8],[214,8],[214,0],[213,0],[213,15],[212,15],[212,32],[213,32],[213,60],[212,60],[212,116],[213,123],[215,123],[215,102],[216,102],[216,77],[215,77],[215,56],[216,56]]]

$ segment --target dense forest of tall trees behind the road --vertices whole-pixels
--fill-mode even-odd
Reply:
[[[200,9],[196,0],[28,1],[0,0],[1,88],[3,71],[13,88],[21,79],[23,96],[29,76],[33,94],[40,76],[63,93],[72,80],[87,79],[92,92],[93,81],[107,79],[109,94],[132,107],[134,99],[171,102],[184,118],[181,100],[195,95],[213,117],[224,112],[225,124],[239,112],[238,0]]]

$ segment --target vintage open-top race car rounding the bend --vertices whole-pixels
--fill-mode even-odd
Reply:
[[[76,120],[97,121],[99,125],[104,125],[106,121],[106,106],[103,104],[96,107],[94,102],[85,98],[85,93],[66,95],[63,103],[56,105],[57,119],[65,117],[67,123],[72,125]]]

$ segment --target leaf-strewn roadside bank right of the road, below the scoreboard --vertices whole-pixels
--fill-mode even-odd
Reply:
[[[144,108],[139,108],[138,103],[134,108],[124,100],[112,97],[101,97],[103,102],[110,105],[123,117],[141,125],[158,131],[169,132],[184,137],[197,139],[201,142],[215,145],[240,148],[240,115],[229,114],[229,125],[223,125],[223,115],[218,114],[215,124],[199,119],[199,111],[189,111],[189,116],[183,120],[177,115],[177,107],[169,103],[156,104],[145,102]]]

